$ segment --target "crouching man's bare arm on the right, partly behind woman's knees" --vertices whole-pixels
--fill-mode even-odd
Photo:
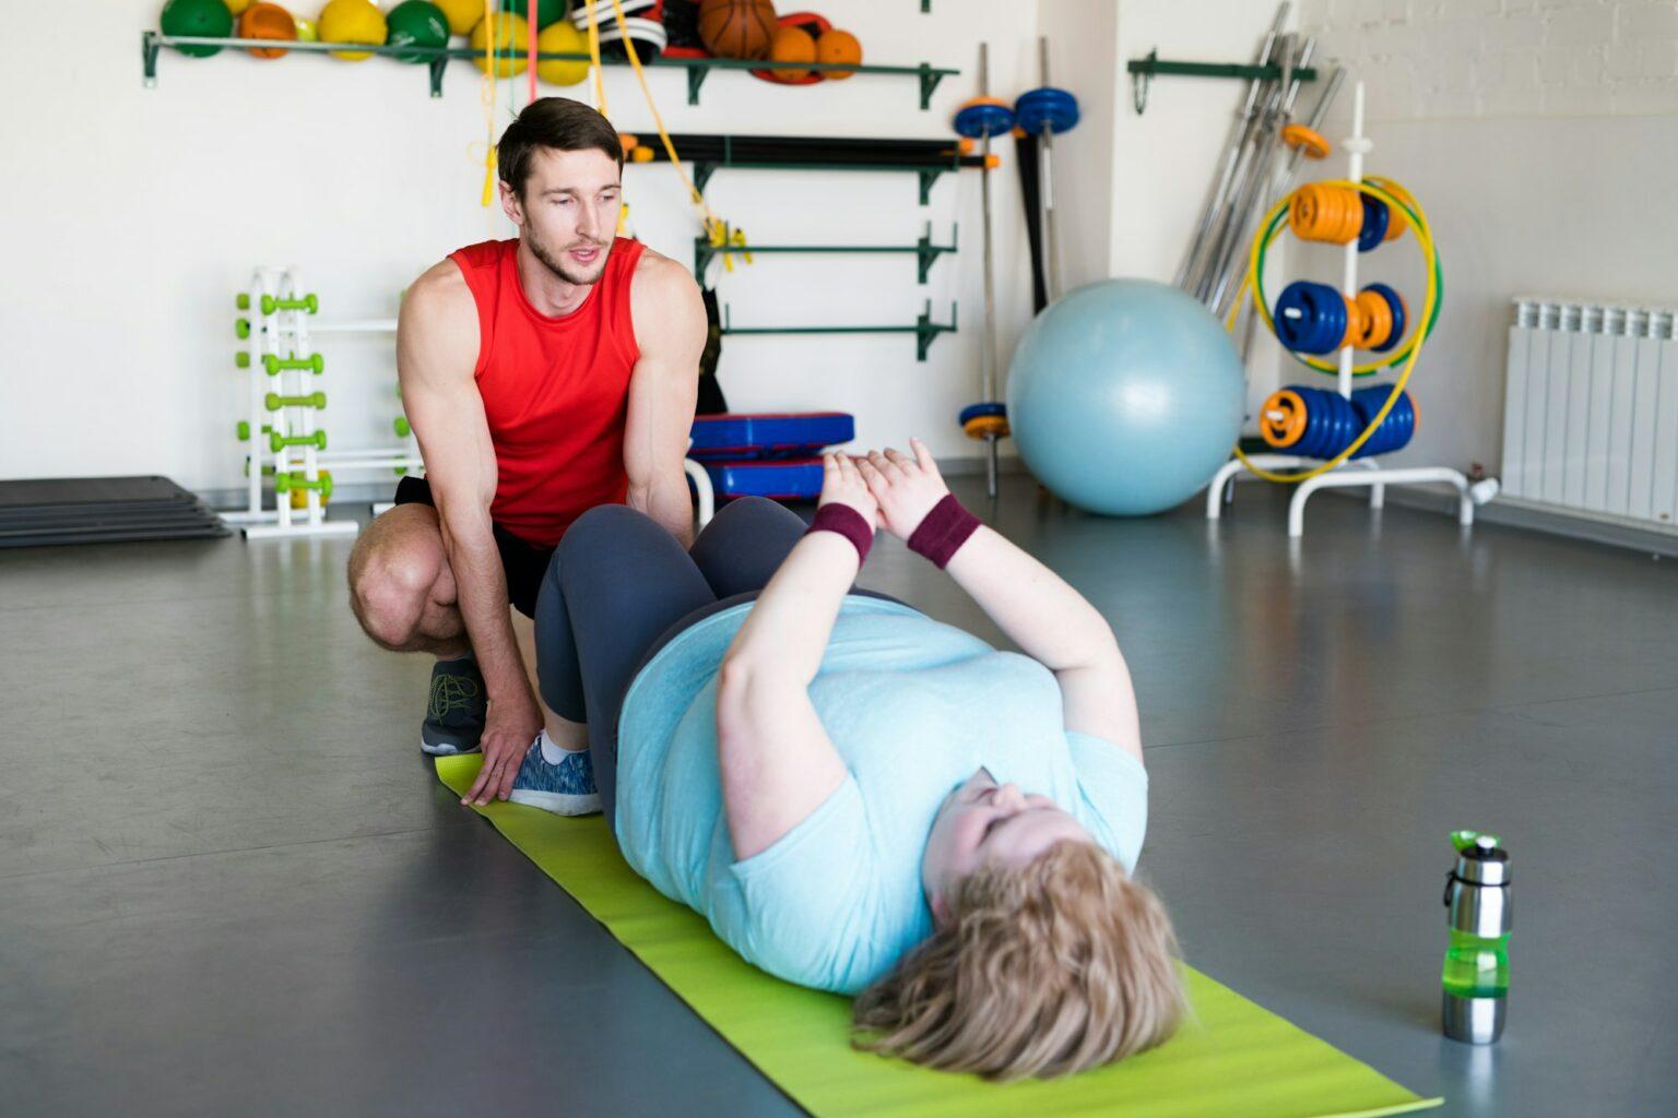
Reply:
[[[641,360],[629,380],[624,429],[628,503],[686,546],[693,543],[693,506],[683,459],[700,391],[705,303],[686,268],[646,251],[636,267],[631,307]]]

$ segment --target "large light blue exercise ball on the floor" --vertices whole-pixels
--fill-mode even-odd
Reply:
[[[1008,369],[1008,426],[1025,466],[1062,501],[1107,516],[1165,511],[1212,481],[1245,399],[1228,332],[1153,280],[1067,292]]]

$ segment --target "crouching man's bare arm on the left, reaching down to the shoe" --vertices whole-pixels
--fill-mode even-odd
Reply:
[[[460,615],[490,692],[480,783],[505,798],[542,717],[513,637],[507,575],[490,526],[497,466],[483,397],[473,379],[477,360],[477,305],[460,268],[443,261],[403,298],[396,370],[403,407],[425,456]]]

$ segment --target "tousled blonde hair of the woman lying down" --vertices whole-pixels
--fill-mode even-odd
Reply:
[[[1183,1016],[1165,905],[1104,850],[983,867],[852,1009],[856,1048],[987,1079],[1054,1078],[1159,1044]]]

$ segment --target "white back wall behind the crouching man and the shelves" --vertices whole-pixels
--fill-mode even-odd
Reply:
[[[322,318],[389,315],[431,261],[510,235],[498,211],[478,206],[485,126],[468,64],[451,64],[445,97],[433,101],[423,67],[388,59],[164,54],[148,91],[139,32],[156,25],[158,7],[84,5],[74,55],[29,50],[0,67],[0,144],[12,171],[0,179],[0,476],[164,473],[196,489],[237,486],[243,448],[232,427],[245,374],[232,364],[232,300],[253,263],[300,267]],[[997,96],[1037,84],[1032,2],[940,0],[921,15],[913,0],[829,0],[822,10],[857,34],[871,62],[930,60],[963,74],[921,112],[913,77],[805,89],[713,72],[701,104],[688,107],[685,74],[654,72],[670,127],[943,137],[973,92],[982,37]],[[15,42],[60,32],[54,5],[8,18]],[[524,97],[524,79],[508,85]],[[621,127],[648,129],[629,70],[609,69],[607,92]],[[1012,166],[995,184],[1007,355],[1030,297]],[[643,240],[691,263],[696,226],[673,171],[626,171],[626,196]],[[909,323],[928,297],[943,320],[958,300],[963,330],[940,337],[928,362],[916,364],[911,335],[730,337],[722,380],[740,411],[847,409],[862,443],[915,432],[940,456],[975,453],[955,421],[978,382],[975,174],[940,179],[926,208],[915,178],[901,174],[720,171],[708,196],[760,243],[911,245],[928,220],[943,241],[960,221],[963,251],[940,260],[925,288],[913,256],[758,258],[720,282],[737,325]],[[332,449],[389,441],[389,345],[322,340],[322,350]]]

